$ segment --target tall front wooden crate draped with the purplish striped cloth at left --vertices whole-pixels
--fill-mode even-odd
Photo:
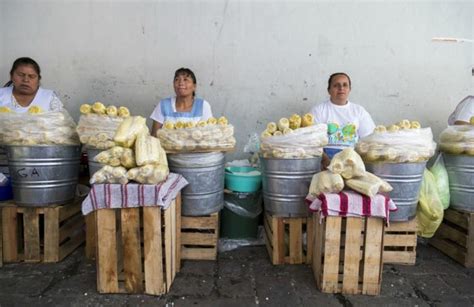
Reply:
[[[97,291],[167,293],[180,269],[180,212],[179,197],[164,211],[160,207],[97,210]]]

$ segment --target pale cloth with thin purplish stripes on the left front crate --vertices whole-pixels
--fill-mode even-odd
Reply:
[[[170,173],[166,181],[153,184],[94,184],[82,202],[82,214],[97,209],[162,207],[167,209],[188,182],[183,176]]]

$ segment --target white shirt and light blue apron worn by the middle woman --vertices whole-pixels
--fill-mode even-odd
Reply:
[[[210,117],[212,117],[211,105],[206,100],[196,98],[190,112],[177,112],[176,97],[160,100],[150,116],[151,119],[160,124],[163,124],[165,121],[176,122],[178,120],[182,122],[195,122],[208,120]]]

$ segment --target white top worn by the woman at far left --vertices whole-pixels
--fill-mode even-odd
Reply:
[[[18,104],[13,96],[13,87],[2,87],[0,88],[0,106],[8,107],[15,113],[25,113],[32,106],[38,106],[43,111],[59,111],[63,108],[61,100],[52,91],[42,87],[36,92],[35,98],[27,107],[22,107]]]

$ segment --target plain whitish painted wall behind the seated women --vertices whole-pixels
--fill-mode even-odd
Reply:
[[[473,94],[472,1],[0,1],[0,82],[15,58],[42,68],[78,119],[103,101],[149,116],[173,94],[179,67],[198,95],[248,136],[268,121],[305,113],[327,97],[327,78],[345,71],[351,100],[376,123],[418,119],[437,136]]]

